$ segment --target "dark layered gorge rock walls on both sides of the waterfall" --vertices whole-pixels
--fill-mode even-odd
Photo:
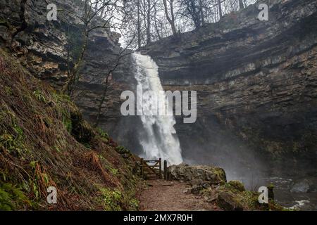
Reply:
[[[78,7],[68,0],[52,3]],[[240,167],[252,170],[260,161],[316,162],[317,3],[261,3],[270,6],[268,21],[257,19],[255,4],[225,15],[219,23],[140,49],[159,65],[166,90],[197,91],[197,122],[183,124],[182,117],[176,117],[187,162],[216,164],[233,172]],[[76,50],[69,31],[77,39],[80,34],[76,18],[46,20],[45,1],[0,4],[1,47],[9,46],[32,74],[59,89],[67,76],[68,53]],[[104,93],[104,75],[122,51],[118,38],[106,30],[89,39],[74,98],[92,124]],[[135,86],[132,64],[125,56],[111,75],[99,126],[137,153],[139,120],[120,115],[121,92]]]

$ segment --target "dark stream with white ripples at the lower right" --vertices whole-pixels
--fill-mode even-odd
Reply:
[[[313,168],[313,167],[311,167]],[[228,171],[228,181],[239,180],[250,191],[258,191],[260,186],[273,184],[275,201],[292,210],[317,210],[316,170],[303,167],[271,168],[270,172],[254,174],[246,172],[237,176]]]

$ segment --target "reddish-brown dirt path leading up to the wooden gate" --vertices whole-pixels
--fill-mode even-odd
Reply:
[[[142,211],[214,211],[216,205],[207,203],[204,197],[185,193],[189,187],[179,181],[153,180],[140,195]]]

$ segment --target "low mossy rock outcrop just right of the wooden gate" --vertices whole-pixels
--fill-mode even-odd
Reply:
[[[178,181],[191,181],[193,186],[199,186],[203,182],[209,184],[225,184],[227,181],[225,171],[219,167],[189,166],[187,164],[172,165],[168,167],[171,178]]]

